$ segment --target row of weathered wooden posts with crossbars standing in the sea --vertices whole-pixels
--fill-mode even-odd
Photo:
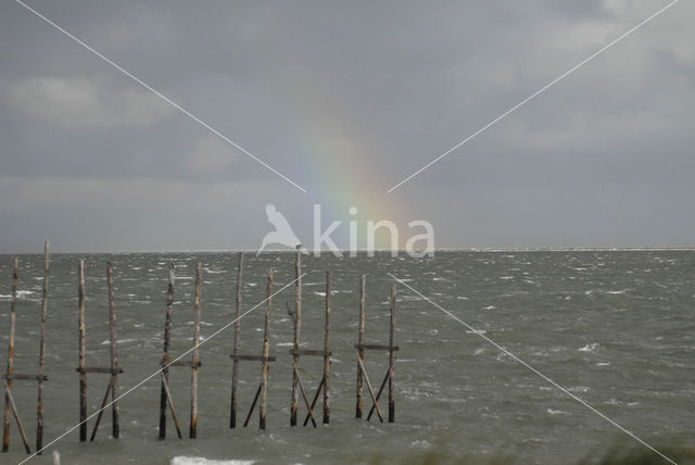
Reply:
[[[38,374],[18,374],[14,372],[14,332],[15,332],[15,302],[17,291],[17,268],[18,259],[14,259],[13,276],[12,276],[12,297],[10,304],[10,343],[8,348],[8,368],[3,376],[4,380],[4,424],[3,424],[3,440],[2,451],[7,452],[10,444],[10,413],[14,416],[20,436],[24,443],[24,448],[27,453],[30,453],[29,443],[25,429],[23,427],[20,414],[17,412],[16,404],[12,397],[12,382],[14,380],[33,380],[38,381],[38,403],[37,403],[37,427],[36,427],[36,451],[41,453],[42,436],[43,436],[43,385],[48,380],[45,369],[45,354],[46,354],[46,321],[48,313],[48,281],[49,281],[49,244],[48,241],[45,244],[45,267],[43,267],[43,294],[41,300],[41,328],[40,328],[40,349],[39,349],[39,366]],[[308,422],[316,427],[316,418],[314,411],[319,395],[323,394],[323,423],[328,424],[330,420],[330,407],[329,407],[329,386],[330,386],[330,299],[331,299],[331,275],[330,272],[326,273],[326,307],[325,307],[325,326],[324,326],[324,347],[320,350],[302,349],[300,347],[300,330],[302,324],[302,254],[300,248],[295,253],[295,279],[293,281],[295,287],[295,302],[294,311],[291,311],[288,305],[288,313],[293,315],[294,319],[294,342],[290,350],[292,356],[292,397],[290,405],[290,425],[298,425],[298,412],[300,406],[300,395],[306,409],[306,415],[304,417],[303,425],[306,426]],[[258,405],[258,427],[261,429],[266,428],[266,410],[267,410],[267,376],[268,376],[268,363],[275,362],[276,357],[269,355],[269,327],[270,327],[270,307],[273,304],[273,271],[268,273],[267,287],[266,287],[266,300],[262,302],[265,304],[265,318],[264,318],[264,332],[263,332],[263,349],[260,355],[241,353],[239,351],[240,337],[241,337],[241,319],[248,313],[241,313],[241,289],[242,289],[242,268],[243,268],[243,253],[239,253],[239,261],[237,266],[237,290],[236,290],[236,314],[235,319],[223,327],[227,327],[233,324],[235,337],[233,337],[233,351],[230,355],[232,361],[232,375],[231,375],[231,407],[229,416],[229,427],[237,427],[237,410],[238,410],[238,394],[237,386],[239,380],[239,362],[241,361],[255,361],[261,362],[261,382],[256,390],[255,397],[251,403],[249,413],[245,415],[243,426],[248,426],[256,404]],[[166,437],[167,426],[167,411],[172,415],[176,433],[179,438],[182,438],[180,423],[176,410],[174,407],[174,401],[172,391],[169,389],[169,370],[176,366],[185,366],[191,369],[191,403],[190,403],[190,425],[189,425],[189,438],[194,439],[197,437],[198,427],[198,372],[202,366],[200,361],[200,314],[201,314],[201,265],[195,266],[195,292],[193,299],[194,307],[194,324],[193,324],[193,343],[192,348],[185,352],[182,355],[172,360],[169,354],[170,348],[170,327],[172,327],[172,313],[174,306],[174,279],[175,279],[175,265],[172,263],[168,268],[168,290],[166,298],[166,318],[164,326],[164,351],[161,361],[161,367],[156,374],[161,378],[162,389],[160,399],[160,427],[159,438],[164,439]],[[87,420],[96,416],[94,425],[90,435],[90,441],[93,441],[102,415],[108,407],[111,407],[112,412],[112,437],[118,438],[119,436],[119,393],[118,393],[118,375],[123,373],[123,369],[118,365],[117,344],[116,344],[116,309],[114,300],[114,287],[113,287],[113,271],[111,262],[106,263],[106,281],[109,289],[109,328],[110,328],[110,355],[111,364],[103,367],[87,366],[86,360],[86,341],[85,341],[85,263],[83,260],[78,262],[78,332],[79,332],[79,364],[76,372],[79,375],[79,440],[87,440]],[[291,285],[291,284],[290,284]],[[289,286],[289,285],[288,285]],[[399,347],[395,345],[395,301],[396,301],[396,288],[395,284],[391,286],[391,317],[390,317],[390,331],[389,331],[389,344],[374,344],[365,343],[365,287],[366,277],[362,275],[359,281],[359,322],[358,322],[358,335],[357,343],[355,344],[356,359],[357,359],[357,377],[356,377],[356,405],[355,417],[363,417],[363,387],[366,385],[369,398],[371,400],[371,409],[367,414],[367,420],[371,419],[376,413],[379,420],[383,422],[383,413],[379,407],[379,399],[388,386],[388,422],[393,423],[395,419],[395,401],[393,395],[393,376],[395,367],[395,352]],[[260,305],[254,306],[253,309]],[[253,310],[252,309],[252,310]],[[220,332],[222,329],[216,334]],[[367,372],[364,366],[364,354],[366,350],[387,351],[389,353],[389,365],[383,377],[383,380],[377,391],[372,388]],[[190,361],[181,360],[185,355],[191,354]],[[324,370],[321,379],[316,388],[316,392],[313,399],[309,401],[309,395],[304,387],[302,377],[300,376],[300,359],[301,356],[320,356],[324,360]],[[87,374],[105,374],[109,375],[109,382],[106,390],[101,402],[100,409],[92,413],[91,416],[87,416]],[[111,402],[109,402],[111,398]]]

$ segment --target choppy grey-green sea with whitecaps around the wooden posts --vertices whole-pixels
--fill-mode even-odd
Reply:
[[[294,288],[274,298],[267,430],[230,430],[233,329],[206,340],[232,319],[236,253],[56,254],[51,256],[45,443],[78,420],[77,260],[86,260],[87,364],[109,360],[105,262],[114,265],[121,392],[151,375],[162,352],[167,266],[177,266],[173,350],[190,347],[194,264],[202,263],[200,414],[197,440],[157,440],[157,377],[121,400],[121,439],[109,437],[110,411],[98,438],[79,443],[75,430],[50,448],[63,464],[189,464],[204,460],[275,463],[543,463],[598,460],[637,445],[614,425],[503,354],[441,310],[399,286],[395,424],[354,418],[359,276],[367,275],[368,342],[387,343],[391,278],[431,298],[519,359],[659,448],[693,445],[695,425],[695,251],[438,252],[431,259],[304,256],[303,347],[323,345],[324,279],[332,274],[331,423],[289,426]],[[7,355],[12,257],[0,255],[0,356]],[[275,289],[294,278],[293,254],[248,254],[243,310],[265,298],[268,268]],[[15,373],[36,370],[42,256],[20,256]],[[241,322],[242,349],[258,352],[263,306]],[[387,355],[368,352],[372,384]],[[302,377],[315,389],[321,360],[302,359]],[[243,420],[261,366],[241,362]],[[88,375],[93,412],[106,375]],[[188,430],[190,369],[173,368],[170,386],[184,433]],[[34,443],[36,382],[15,381],[15,401]],[[320,401],[319,401],[320,405]],[[365,390],[365,405],[369,406]],[[386,403],[383,404],[386,410]],[[301,412],[304,412],[301,410]],[[300,415],[303,418],[303,414]],[[317,409],[320,418],[320,407]],[[90,422],[90,430],[93,420]],[[645,452],[648,450],[645,449]],[[648,454],[647,454],[648,455]],[[24,457],[12,429],[11,452]],[[33,463],[51,463],[50,453]],[[239,462],[243,463],[243,462]],[[658,462],[655,462],[658,463]]]

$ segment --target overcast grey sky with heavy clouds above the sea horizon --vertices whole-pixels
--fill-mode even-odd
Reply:
[[[695,246],[693,2],[23,1],[306,192],[0,0],[0,253]]]

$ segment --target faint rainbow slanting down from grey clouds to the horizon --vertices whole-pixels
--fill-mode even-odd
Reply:
[[[388,174],[380,175],[368,163],[369,152],[379,153],[378,142],[355,140],[359,129],[340,118],[339,105],[332,97],[312,91],[305,83],[292,84],[295,83],[287,83],[287,108],[277,109],[276,114],[282,117],[274,122],[277,126],[273,134],[282,140],[283,150],[296,166],[292,171],[302,173],[300,184],[308,190],[312,203],[321,204],[324,223],[343,222],[333,236],[338,246],[349,247],[351,219],[358,223],[358,248],[367,244],[367,221],[389,219],[399,227],[399,247],[403,247],[409,237],[403,217],[406,209],[399,204],[396,196],[387,193]],[[358,211],[355,216],[349,213],[352,206]],[[390,248],[386,230],[377,234],[376,247]]]

